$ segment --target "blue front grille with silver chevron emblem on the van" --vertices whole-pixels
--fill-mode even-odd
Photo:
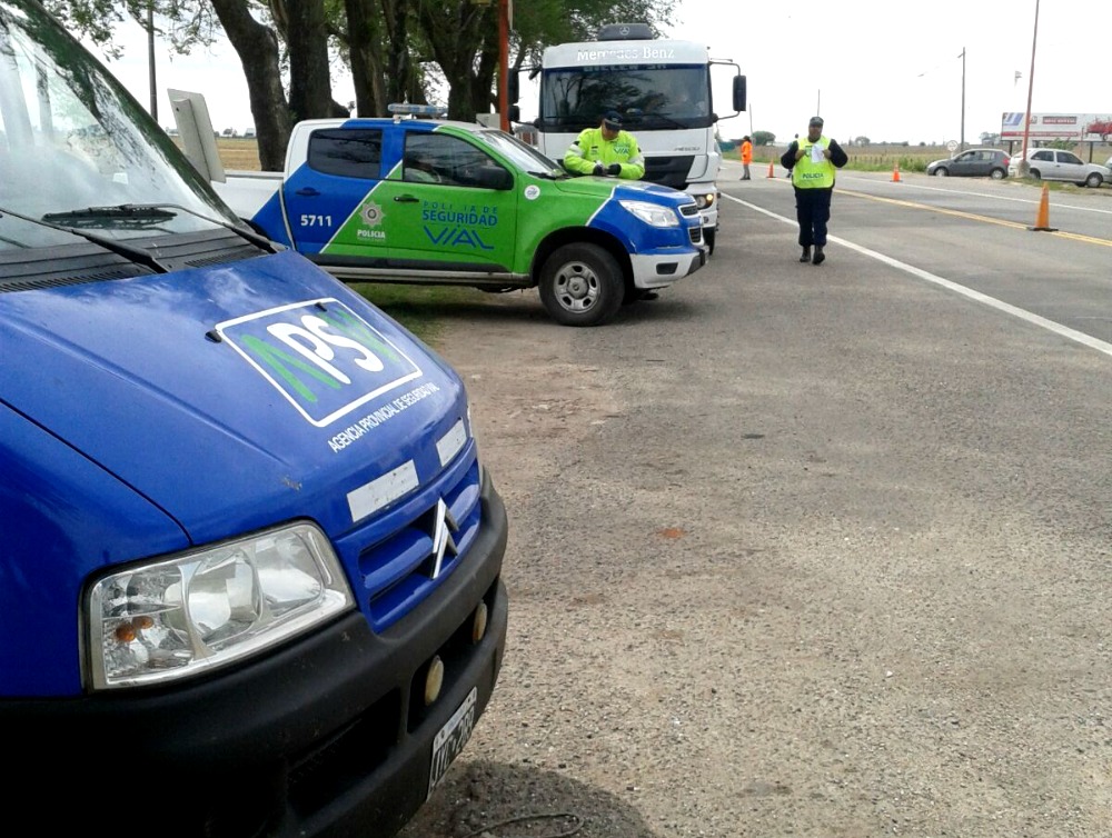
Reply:
[[[389,535],[359,551],[363,589],[356,591],[375,631],[407,613],[466,560],[481,522],[479,493],[478,460],[469,452],[469,462],[465,457],[415,502],[376,522],[387,525]]]

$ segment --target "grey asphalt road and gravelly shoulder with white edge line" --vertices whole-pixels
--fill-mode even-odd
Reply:
[[[843,173],[814,267],[753,170],[606,327],[443,312],[510,637],[403,835],[1112,835],[1112,190]]]

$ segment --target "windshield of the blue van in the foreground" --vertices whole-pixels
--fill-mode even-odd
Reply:
[[[86,215],[81,227],[125,239],[149,237],[156,222],[159,232],[177,233],[211,230],[202,216],[238,221],[142,108],[42,7],[0,0],[0,207],[66,225],[76,210],[148,203],[187,211],[141,219],[148,223],[133,213]],[[22,238],[0,236],[0,250],[27,246]]]

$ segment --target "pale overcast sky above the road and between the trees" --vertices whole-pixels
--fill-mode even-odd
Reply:
[[[1062,2],[1040,7],[1034,113],[1112,112],[1103,46],[1109,20],[1081,8]],[[727,139],[751,129],[791,139],[806,130],[817,111],[826,132],[840,140],[959,140],[964,50],[965,141],[975,143],[982,132],[1000,130],[1001,113],[1025,110],[1034,17],[1035,0],[986,7],[679,0],[667,34],[706,44],[712,58],[736,61],[746,76],[749,110],[721,122]],[[119,34],[126,56],[106,63],[146,104],[146,33],[131,24]],[[728,109],[731,74],[718,68],[714,77],[718,113]],[[171,56],[165,43],[158,44],[156,77],[162,126],[172,124],[167,88],[203,93],[217,131],[244,131],[252,123],[242,67],[227,43],[191,56]],[[337,101],[355,98],[350,78],[339,72],[334,72],[332,90]],[[520,104],[525,118],[536,114],[535,104],[524,98]]]

